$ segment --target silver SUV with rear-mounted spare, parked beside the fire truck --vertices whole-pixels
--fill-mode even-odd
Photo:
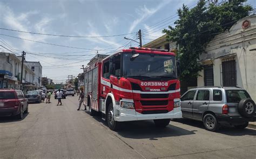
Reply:
[[[235,87],[201,87],[181,96],[183,118],[204,122],[208,131],[220,125],[245,128],[255,121],[255,103],[246,90]]]

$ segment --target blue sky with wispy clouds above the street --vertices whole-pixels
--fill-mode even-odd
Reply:
[[[246,3],[256,8],[255,0]],[[42,64],[43,77],[55,83],[65,82],[68,75],[82,73],[81,66],[86,66],[97,52],[111,54],[130,46],[137,47],[136,42],[124,37],[138,41],[139,29],[143,44],[160,37],[163,28],[173,26],[177,9],[183,4],[193,7],[197,1],[1,0],[0,28],[76,37],[0,30],[0,45],[9,49],[0,47],[0,51],[11,50],[21,55],[24,50],[26,61]]]

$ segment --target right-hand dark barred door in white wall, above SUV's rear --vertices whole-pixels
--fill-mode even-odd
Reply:
[[[222,62],[223,86],[237,86],[235,60]]]

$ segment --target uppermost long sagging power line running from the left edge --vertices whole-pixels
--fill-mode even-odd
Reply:
[[[57,34],[44,34],[44,33],[36,33],[36,32],[26,32],[26,31],[19,31],[19,30],[12,30],[9,28],[0,28],[1,30],[6,31],[14,31],[14,32],[21,32],[21,33],[29,33],[29,34],[38,34],[38,35],[48,35],[53,37],[69,37],[69,38],[108,38],[108,37],[120,37],[124,35],[134,34],[133,33],[126,33],[126,34],[117,34],[117,35],[105,35],[105,36],[74,36],[74,35],[57,35]]]

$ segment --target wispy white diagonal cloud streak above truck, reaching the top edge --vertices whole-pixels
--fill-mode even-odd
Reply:
[[[154,15],[154,13],[156,13],[157,11],[159,11],[161,8],[163,8],[166,4],[170,3],[170,1],[162,1],[162,3],[160,3],[159,5],[157,5],[156,8],[153,9],[148,9],[146,8],[146,5],[144,5],[144,7],[142,9],[136,10],[137,12],[137,18],[136,20],[134,20],[129,28],[129,33],[131,33],[134,28],[143,20],[145,20],[146,18],[151,17],[152,15]]]

